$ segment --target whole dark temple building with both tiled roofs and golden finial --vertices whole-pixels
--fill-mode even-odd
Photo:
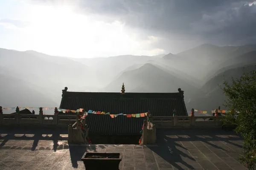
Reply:
[[[177,93],[121,93],[71,92],[62,90],[61,109],[105,112],[110,114],[150,113],[152,116],[188,116],[183,91]],[[145,117],[124,115],[111,118],[108,114],[88,113],[86,124],[94,144],[138,144]]]

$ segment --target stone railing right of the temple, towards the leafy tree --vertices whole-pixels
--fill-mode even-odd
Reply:
[[[221,127],[223,116],[153,116],[151,122],[156,128],[175,127]]]

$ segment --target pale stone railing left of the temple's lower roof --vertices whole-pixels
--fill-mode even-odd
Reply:
[[[79,114],[79,113],[78,113]],[[41,125],[67,126],[77,120],[77,115],[3,114],[0,113],[0,125]]]

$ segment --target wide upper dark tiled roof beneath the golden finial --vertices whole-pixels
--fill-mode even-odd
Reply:
[[[60,108],[85,111],[104,111],[111,114],[133,114],[150,111],[154,116],[187,116],[186,106],[179,93],[92,93],[66,92]]]

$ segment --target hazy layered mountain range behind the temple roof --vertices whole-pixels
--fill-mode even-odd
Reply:
[[[211,111],[226,99],[218,85],[256,69],[256,45],[203,44],[179,54],[69,58],[0,48],[0,105],[58,107],[61,90],[184,91],[187,110]],[[224,77],[223,77],[224,75]]]

